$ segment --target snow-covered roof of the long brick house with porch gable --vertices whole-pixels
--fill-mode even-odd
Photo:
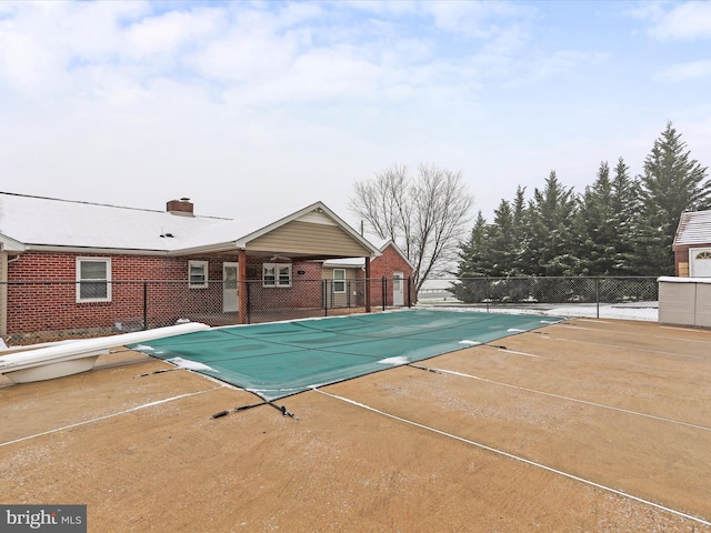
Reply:
[[[371,254],[378,253],[322,202],[293,213],[230,220],[0,192],[0,243],[10,252],[100,249],[178,255],[234,251],[297,219],[338,225]]]

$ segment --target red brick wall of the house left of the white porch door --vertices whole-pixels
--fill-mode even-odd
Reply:
[[[77,302],[77,257],[111,259],[110,302]],[[190,259],[208,261],[210,280],[222,280],[222,263],[237,260]],[[9,334],[142,326],[144,286],[152,326],[174,323],[188,308],[208,312],[222,305],[221,282],[207,289],[188,286],[186,258],[28,252],[8,265],[8,274]]]

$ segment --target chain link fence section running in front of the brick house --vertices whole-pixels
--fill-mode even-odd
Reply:
[[[410,280],[8,282],[8,344],[93,338],[191,321],[211,326],[364,313],[407,306]],[[240,294],[243,292],[243,294]],[[1,300],[1,299],[0,299]]]

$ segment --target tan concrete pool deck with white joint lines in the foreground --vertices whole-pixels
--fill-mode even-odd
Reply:
[[[277,402],[134,352],[0,381],[0,502],[91,532],[711,532],[711,331],[578,319]],[[148,374],[148,375],[144,375]]]

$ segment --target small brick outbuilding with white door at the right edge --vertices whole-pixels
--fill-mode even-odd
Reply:
[[[711,210],[682,213],[672,249],[678,276],[711,278]]]

